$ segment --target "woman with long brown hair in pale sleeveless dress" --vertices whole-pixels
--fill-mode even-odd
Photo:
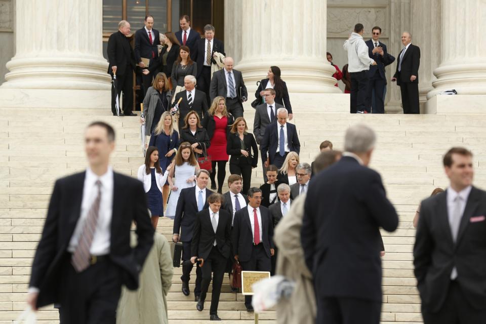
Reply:
[[[177,200],[181,190],[196,185],[195,174],[199,171],[199,165],[189,142],[180,144],[175,160],[175,167],[171,169],[167,179],[171,187],[171,195],[167,203],[166,217],[170,219],[176,216]]]

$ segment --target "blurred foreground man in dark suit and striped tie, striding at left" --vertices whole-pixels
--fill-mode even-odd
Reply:
[[[142,183],[109,166],[114,140],[111,126],[101,121],[88,126],[89,168],[56,181],[35,252],[28,303],[34,310],[60,304],[64,323],[114,324],[121,285],[138,288],[153,244]]]

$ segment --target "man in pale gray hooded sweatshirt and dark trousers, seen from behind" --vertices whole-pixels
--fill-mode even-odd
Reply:
[[[348,52],[348,71],[351,74],[351,113],[366,112],[366,93],[368,87],[368,70],[376,62],[368,56],[368,46],[363,40],[365,27],[356,24],[354,32],[344,42]]]

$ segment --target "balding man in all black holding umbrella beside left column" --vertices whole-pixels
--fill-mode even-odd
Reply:
[[[133,71],[136,68],[135,54],[130,41],[130,23],[122,20],[118,23],[118,31],[108,38],[108,73],[116,75],[116,95],[121,97],[123,91],[123,113],[126,116],[136,116],[133,110]],[[116,116],[116,95],[111,93],[111,112]]]

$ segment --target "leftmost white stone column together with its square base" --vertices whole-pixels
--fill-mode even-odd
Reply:
[[[16,54],[0,105],[109,107],[102,21],[102,0],[17,0]]]

